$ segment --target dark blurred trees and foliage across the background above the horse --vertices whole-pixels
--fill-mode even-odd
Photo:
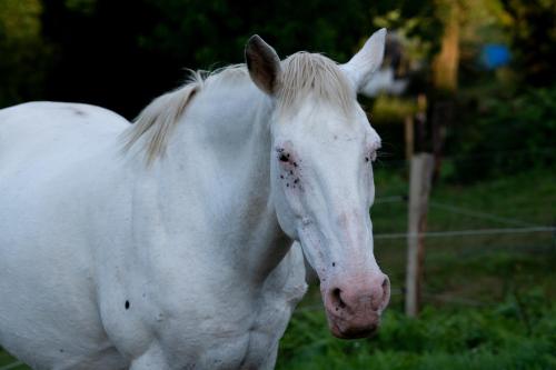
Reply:
[[[554,158],[538,150],[550,147],[555,130],[549,101],[556,86],[556,0],[2,0],[0,107],[78,101],[132,119],[151,99],[179,86],[185,68],[242,62],[244,44],[254,33],[281,57],[307,49],[344,62],[374,30],[387,27],[403,41],[409,93],[364,103],[385,150],[400,159],[399,124],[415,110],[415,94],[429,94],[434,107],[431,61],[453,7],[459,9],[459,84],[445,154],[532,153],[513,164],[507,157],[477,162],[475,178],[549,164]],[[512,47],[509,68],[480,67],[480,48],[488,42]],[[502,93],[492,93],[492,84]],[[451,172],[469,169],[457,164]]]

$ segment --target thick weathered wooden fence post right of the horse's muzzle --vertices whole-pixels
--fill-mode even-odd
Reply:
[[[406,314],[419,313],[423,278],[424,237],[427,226],[428,197],[433,180],[434,157],[419,153],[411,158],[406,270]]]

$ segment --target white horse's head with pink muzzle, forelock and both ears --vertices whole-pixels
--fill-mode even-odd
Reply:
[[[280,61],[258,36],[246,47],[250,78],[275,104],[270,182],[278,222],[316,270],[339,338],[373,333],[390,296],[369,218],[380,138],[357,103],[380,67],[385,34],[377,31],[341,66],[306,52]]]

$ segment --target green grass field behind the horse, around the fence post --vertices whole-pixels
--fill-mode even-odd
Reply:
[[[375,171],[377,199],[407,194],[404,169]],[[532,224],[556,221],[556,172],[529,171],[460,187],[437,183],[431,201]],[[375,234],[407,229],[405,202],[377,203]],[[430,208],[428,230],[513,228]],[[426,239],[424,306],[403,314],[406,241],[377,239],[394,288],[379,333],[342,341],[309,291],[280,342],[278,369],[556,369],[556,239],[550,233]],[[0,367],[14,361],[0,351]],[[18,370],[28,369],[18,367]]]

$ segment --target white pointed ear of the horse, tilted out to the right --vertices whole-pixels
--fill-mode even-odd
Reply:
[[[354,82],[359,91],[370,80],[383,64],[384,49],[386,40],[386,29],[383,28],[365,42],[364,47],[346,64],[341,64],[341,70]]]

